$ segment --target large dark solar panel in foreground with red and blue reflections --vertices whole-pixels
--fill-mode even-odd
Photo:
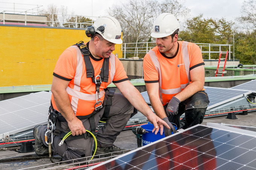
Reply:
[[[196,125],[122,156],[94,170],[250,170],[256,167],[256,135]]]

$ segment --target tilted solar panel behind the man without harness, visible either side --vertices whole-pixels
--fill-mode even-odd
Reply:
[[[251,91],[248,90],[226,89],[219,87],[205,86],[204,89],[206,90],[210,101],[207,110],[251,93]],[[150,104],[148,92],[142,92],[141,95],[146,103]]]

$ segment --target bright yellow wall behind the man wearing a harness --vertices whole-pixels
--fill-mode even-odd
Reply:
[[[0,26],[0,87],[52,84],[60,54],[90,39],[85,30],[53,27]],[[121,45],[113,54],[122,58]]]

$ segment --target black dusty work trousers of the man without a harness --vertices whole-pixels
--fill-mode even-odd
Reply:
[[[186,129],[191,126],[201,124],[209,104],[207,93],[203,90],[195,93],[190,98],[180,102],[177,115],[168,115],[170,122],[177,125],[177,129]],[[164,106],[165,112],[168,104]],[[185,113],[185,117],[180,120],[180,116]]]

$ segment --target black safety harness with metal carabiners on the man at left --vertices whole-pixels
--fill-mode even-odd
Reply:
[[[94,104],[94,111],[86,116],[76,116],[79,120],[83,119],[89,119],[90,121],[90,126],[91,126],[91,132],[93,135],[95,135],[95,130],[96,130],[96,125],[94,121],[94,114],[99,112],[103,108],[103,102],[101,101],[101,96],[100,96],[100,86],[102,82],[108,82],[108,76],[109,76],[109,58],[105,58],[102,64],[102,69],[99,75],[94,77],[94,69],[93,65],[90,61],[90,51],[87,47],[87,45],[84,44],[83,41],[80,41],[79,43],[75,44],[78,46],[80,49],[83,57],[84,57],[84,62],[85,62],[85,67],[86,67],[86,76],[87,78],[91,78],[92,82],[96,84],[96,103]],[[110,107],[112,105],[112,99],[114,98],[114,92],[115,89],[110,88],[110,89],[104,89],[105,91],[109,91],[107,94],[107,101],[104,102],[105,105],[105,110],[103,113],[102,118],[107,118],[110,112]],[[99,105],[99,106],[96,106]],[[48,116],[48,122],[50,122],[53,125],[55,125],[55,130],[54,132],[51,130],[48,130],[47,132],[52,133],[53,135],[60,136],[62,139],[66,133],[62,131],[61,128],[61,122],[67,122],[67,120],[59,113],[57,110],[55,110],[52,106],[52,102],[49,108],[49,116]],[[49,125],[49,123],[48,123]],[[47,133],[46,133],[47,134]],[[74,140],[78,138],[88,138],[91,137],[92,135],[88,132],[85,132],[85,134],[82,135],[70,135],[69,137],[66,138],[66,141],[68,140]],[[47,141],[46,141],[47,142]]]

